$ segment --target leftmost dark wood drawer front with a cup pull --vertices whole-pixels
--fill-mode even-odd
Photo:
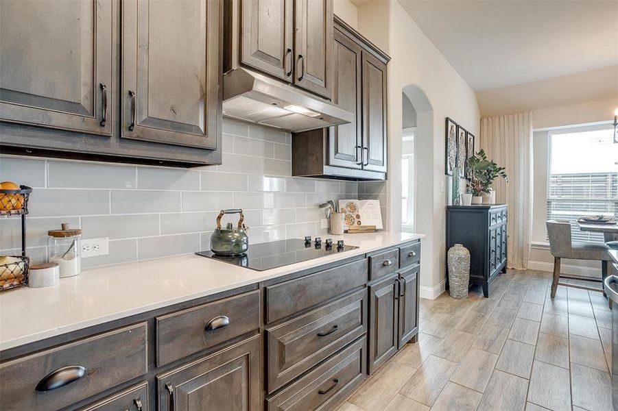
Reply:
[[[0,364],[2,409],[58,410],[144,375],[146,338],[139,323]]]

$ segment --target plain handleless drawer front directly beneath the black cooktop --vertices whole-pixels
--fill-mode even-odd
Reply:
[[[281,284],[265,287],[266,322],[272,323],[337,295],[364,286],[367,260],[350,262]]]

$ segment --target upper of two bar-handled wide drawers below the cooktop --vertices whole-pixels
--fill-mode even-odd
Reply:
[[[266,329],[268,392],[298,377],[366,331],[366,290]]]

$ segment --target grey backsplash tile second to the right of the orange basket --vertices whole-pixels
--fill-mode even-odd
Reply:
[[[111,198],[112,214],[180,211],[179,191],[114,190]]]

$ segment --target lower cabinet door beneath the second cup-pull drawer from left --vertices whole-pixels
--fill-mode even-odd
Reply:
[[[160,411],[257,411],[260,397],[260,343],[254,336],[157,375]]]

